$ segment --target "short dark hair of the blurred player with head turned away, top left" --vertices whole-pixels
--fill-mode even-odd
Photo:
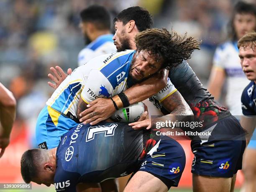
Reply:
[[[80,12],[82,22],[92,22],[98,30],[110,29],[110,13],[100,5],[91,5]]]

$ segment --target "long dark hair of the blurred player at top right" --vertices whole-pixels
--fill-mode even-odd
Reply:
[[[234,19],[236,14],[252,14],[256,17],[256,5],[253,3],[238,1],[233,9],[230,22],[228,23],[228,35],[231,40],[236,41],[238,37],[234,27]],[[256,30],[256,29],[254,29]]]

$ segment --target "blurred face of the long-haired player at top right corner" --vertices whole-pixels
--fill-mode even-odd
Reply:
[[[236,14],[234,17],[234,28],[238,39],[246,32],[256,30],[256,17],[252,14]]]

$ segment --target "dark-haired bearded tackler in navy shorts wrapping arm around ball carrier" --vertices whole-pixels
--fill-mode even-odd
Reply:
[[[141,17],[139,16],[140,12]],[[142,7],[129,7],[118,14],[115,18],[116,32],[113,37],[118,50],[122,50],[122,47],[127,48],[123,46],[125,45],[123,42],[129,42],[131,49],[136,48],[133,39],[139,32],[138,29],[143,30],[145,27],[151,27],[148,23],[152,22],[145,22],[145,25],[141,22],[145,19],[148,21],[152,20],[148,11]],[[139,24],[142,26],[137,26]],[[178,49],[177,52],[181,50]],[[169,51],[172,52],[172,50]],[[211,140],[211,138],[203,140],[197,138],[197,140],[191,142],[192,152],[195,155],[192,164],[193,190],[197,192],[233,191],[235,182],[231,184],[231,180],[242,167],[242,157],[245,149],[245,140],[243,140],[243,130],[240,123],[202,87],[200,80],[186,61],[182,61],[177,67],[172,67],[169,71],[169,78],[190,105],[195,118],[205,120],[204,130],[196,131],[209,129],[212,133],[218,132],[219,135],[229,136],[232,133],[232,135],[238,138],[239,135],[242,135],[239,140],[233,140],[232,137],[217,137],[214,140]],[[131,87],[131,89],[124,92],[130,104],[148,98],[148,95],[153,95],[152,93],[155,91],[154,83],[152,83],[150,89],[143,95],[140,93],[140,90],[145,90],[144,83],[142,82],[139,85],[141,86]],[[113,100],[119,100],[118,96],[114,96]],[[151,100],[155,99],[152,98]],[[164,114],[169,113],[161,103],[159,104],[157,101],[154,103],[158,103],[157,106],[159,106]],[[120,104],[118,107],[123,107],[122,102],[118,104]],[[90,108],[82,112],[82,115],[84,116],[83,120],[87,123],[90,122],[91,125],[110,117],[115,112],[115,107],[110,99],[97,99],[91,102],[88,107]],[[150,123],[151,120],[145,120],[131,125],[134,125],[134,128],[141,128],[150,127]],[[224,165],[227,164],[225,169],[223,169],[223,163]],[[141,180],[141,178],[133,177],[129,185],[136,184],[138,180]]]

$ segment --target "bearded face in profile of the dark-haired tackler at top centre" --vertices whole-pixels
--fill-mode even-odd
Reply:
[[[126,24],[127,25],[127,24]],[[115,35],[113,36],[114,44],[118,52],[131,49],[129,37],[123,22],[115,22]]]

